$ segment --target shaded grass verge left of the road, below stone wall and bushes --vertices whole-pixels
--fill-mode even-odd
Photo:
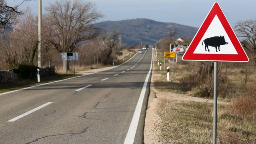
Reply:
[[[75,76],[80,76],[79,74],[54,74],[52,76],[46,76],[46,77],[42,77],[40,78],[40,82],[38,83],[37,80],[17,80],[16,82],[7,82],[7,83],[2,83],[0,84],[0,93],[3,92],[9,92],[12,90],[18,90],[21,88],[26,88],[29,86],[35,86],[38,84],[44,84],[47,82],[53,82],[56,80],[63,80],[66,78],[72,78]]]

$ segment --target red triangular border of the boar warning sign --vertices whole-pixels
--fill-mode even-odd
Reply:
[[[206,30],[210,26],[214,16],[216,15],[218,16],[222,26],[224,27],[226,33],[228,34],[238,54],[193,54],[200,40],[204,36]],[[212,6],[210,12],[208,13],[204,22],[202,23],[198,32],[196,33],[196,36],[193,38],[191,44],[188,46],[187,51],[182,56],[182,60],[216,61],[216,62],[248,62],[249,61],[248,56],[246,55],[244,49],[242,48],[242,45],[240,44],[238,38],[236,37],[233,29],[231,28],[218,2],[215,2],[214,5]]]

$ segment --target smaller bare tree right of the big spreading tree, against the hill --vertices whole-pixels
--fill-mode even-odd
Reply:
[[[106,62],[110,60],[110,56],[114,50],[114,47],[118,45],[118,36],[121,32],[113,30],[107,36],[102,35],[102,50],[106,54]]]

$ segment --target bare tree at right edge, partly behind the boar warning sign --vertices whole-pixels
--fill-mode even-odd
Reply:
[[[238,33],[238,37],[243,38],[241,43],[250,52],[254,66],[256,66],[256,20],[238,22],[235,30]]]

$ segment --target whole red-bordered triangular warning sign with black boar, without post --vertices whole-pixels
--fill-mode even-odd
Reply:
[[[249,61],[218,2],[212,6],[182,60]]]

